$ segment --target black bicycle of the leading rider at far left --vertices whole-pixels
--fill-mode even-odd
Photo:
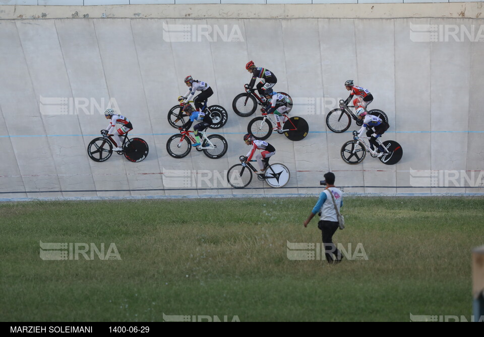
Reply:
[[[105,161],[112,155],[112,147],[117,146],[112,136],[107,135],[107,130],[101,130],[102,137],[91,140],[87,146],[87,154],[94,161]],[[123,135],[121,151],[117,154],[124,154],[126,159],[132,162],[139,162],[148,155],[148,144],[141,138],[128,138],[128,132]]]

